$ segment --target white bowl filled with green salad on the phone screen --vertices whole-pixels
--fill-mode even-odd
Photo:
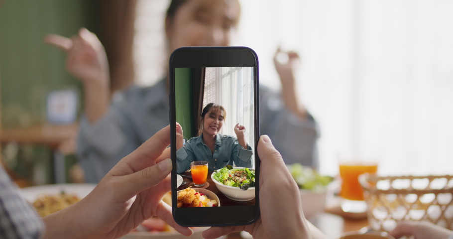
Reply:
[[[249,201],[255,198],[255,170],[243,167],[226,167],[211,174],[219,191],[234,201]]]

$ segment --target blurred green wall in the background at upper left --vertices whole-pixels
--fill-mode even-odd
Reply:
[[[66,54],[43,43],[47,33],[71,36],[80,27],[99,32],[97,0],[2,0],[0,95],[3,127],[45,122],[51,90],[80,83],[65,71]],[[81,102],[79,102],[79,108]],[[79,109],[80,112],[80,109]]]

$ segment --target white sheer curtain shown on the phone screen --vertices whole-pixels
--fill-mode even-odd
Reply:
[[[245,140],[254,151],[253,67],[207,67],[203,108],[209,103],[226,110],[222,133],[236,137],[234,126],[244,125]]]

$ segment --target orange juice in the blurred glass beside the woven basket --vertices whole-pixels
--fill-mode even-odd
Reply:
[[[358,182],[358,176],[364,173],[376,172],[377,164],[340,164],[341,197],[348,200],[363,201],[363,191]]]

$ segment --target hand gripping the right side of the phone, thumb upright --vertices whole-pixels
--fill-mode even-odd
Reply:
[[[203,232],[203,237],[214,239],[232,232],[246,231],[256,239],[311,239],[302,212],[299,188],[267,135],[260,137],[257,151],[261,159],[260,218],[246,226],[213,227]],[[278,175],[278,180],[275,180],[275,175]],[[285,201],[291,203],[282,203],[282,195],[285,195]]]

